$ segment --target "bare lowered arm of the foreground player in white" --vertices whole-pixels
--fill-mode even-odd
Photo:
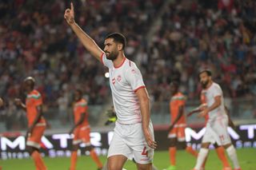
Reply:
[[[142,113],[142,129],[144,132],[144,136],[146,138],[146,143],[151,148],[156,148],[157,144],[153,140],[151,134],[150,134],[150,97],[148,93],[146,92],[145,88],[138,89],[136,92],[136,95],[138,97],[141,113]]]

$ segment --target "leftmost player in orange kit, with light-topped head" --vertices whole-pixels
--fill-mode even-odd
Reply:
[[[39,153],[41,138],[46,130],[46,120],[42,116],[42,97],[41,94],[34,89],[34,77],[26,77],[23,82],[26,90],[26,105],[21,99],[16,98],[15,104],[26,111],[28,128],[26,131],[26,149],[34,160],[37,170],[45,170],[46,165]]]

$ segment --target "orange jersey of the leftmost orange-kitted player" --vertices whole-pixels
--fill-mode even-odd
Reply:
[[[42,97],[41,94],[34,89],[26,95],[26,117],[29,126],[33,124],[34,119],[37,117],[37,107],[39,105],[42,105]],[[38,123],[46,124],[46,120],[41,117]]]

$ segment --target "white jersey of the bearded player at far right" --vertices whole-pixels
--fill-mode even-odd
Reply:
[[[202,95],[205,95],[206,97],[207,107],[210,107],[211,105],[214,104],[214,97],[218,97],[218,96],[221,97],[221,101],[222,101],[221,105],[219,105],[218,108],[208,113],[209,121],[216,121],[217,118],[227,117],[225,112],[225,107],[224,107],[224,98],[223,98],[222,89],[217,83],[213,82],[213,84],[210,85],[208,89],[203,89]]]

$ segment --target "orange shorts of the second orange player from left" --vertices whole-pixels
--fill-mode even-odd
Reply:
[[[73,144],[80,143],[90,145],[90,126],[83,126],[74,129]]]

